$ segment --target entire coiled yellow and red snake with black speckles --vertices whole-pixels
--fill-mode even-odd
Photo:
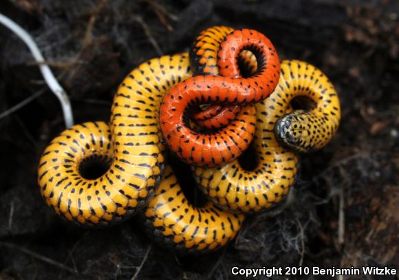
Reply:
[[[206,252],[224,246],[237,235],[245,219],[242,213],[261,211],[279,202],[296,174],[297,158],[290,150],[319,149],[332,138],[340,118],[338,96],[316,67],[283,61],[279,82],[269,98],[255,105],[226,107],[225,101],[248,104],[264,97],[254,97],[253,88],[259,87],[259,82],[240,78],[235,60],[225,64],[227,68],[235,65],[233,72],[217,76],[217,50],[227,42],[224,40],[228,34],[235,36],[233,29],[226,27],[203,32],[196,41],[197,56],[192,55],[191,63],[187,53],[142,63],[118,88],[110,126],[85,122],[54,138],[39,164],[39,186],[47,204],[58,215],[85,225],[120,222],[142,210],[145,229],[162,244],[188,252]],[[255,54],[259,52],[255,50]],[[204,61],[203,56],[208,59]],[[246,51],[239,54],[236,50],[234,56],[256,78],[257,65],[262,67],[262,61]],[[196,65],[194,72],[200,76],[190,78],[191,64]],[[251,88],[245,97],[224,92],[230,89],[234,94],[244,87]],[[208,96],[204,91],[209,91]],[[215,92],[218,97],[212,96]],[[292,111],[290,101],[296,96],[308,96],[314,107]],[[197,125],[218,128],[219,134],[204,136],[187,127],[188,106],[219,101],[224,104],[211,105],[192,115]],[[164,160],[161,128],[171,123],[172,113],[180,114],[177,123],[181,127],[176,130],[189,129],[190,133],[177,132],[193,138],[186,143],[187,139],[180,140],[179,136],[177,143],[184,147],[180,151],[171,141],[176,139],[171,125],[169,133],[164,131],[165,140],[186,161],[216,166],[234,160],[215,168],[193,167],[197,183],[211,197],[204,206],[193,206],[187,200]],[[252,135],[257,167],[246,171],[235,158],[248,147]],[[195,142],[198,136],[202,146]],[[221,145],[226,151],[219,149]],[[201,153],[198,147],[202,147]],[[102,162],[109,168],[99,177],[87,177],[83,169],[90,162]]]

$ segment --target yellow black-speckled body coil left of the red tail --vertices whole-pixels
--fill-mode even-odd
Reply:
[[[45,202],[80,224],[109,224],[142,209],[160,184],[164,145],[158,111],[164,94],[191,76],[188,54],[151,59],[118,88],[111,109],[111,139],[96,122],[72,127],[54,138],[39,163]],[[96,137],[96,133],[100,133]],[[95,179],[80,174],[80,163],[97,155],[111,162]]]

